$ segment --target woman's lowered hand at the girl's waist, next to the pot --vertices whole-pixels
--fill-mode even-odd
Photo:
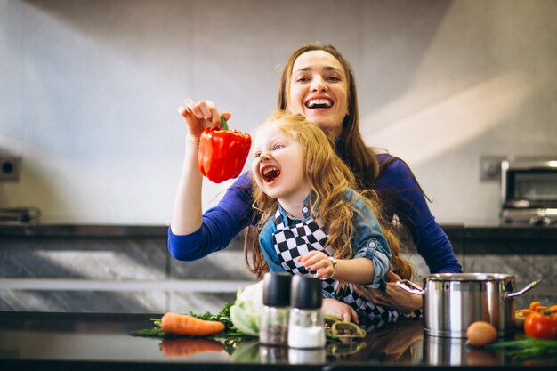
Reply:
[[[422,296],[409,294],[397,286],[396,282],[400,281],[400,279],[401,278],[397,274],[389,271],[387,274],[387,280],[389,282],[387,282],[387,289],[384,292],[356,285],[354,285],[354,291],[356,294],[364,297],[369,302],[373,302],[375,305],[400,311],[401,313],[409,313],[411,311],[416,311],[418,308],[422,308],[424,305]]]

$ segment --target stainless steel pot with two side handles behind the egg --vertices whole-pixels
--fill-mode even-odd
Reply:
[[[425,276],[423,288],[407,279],[397,285],[424,296],[426,335],[466,337],[468,326],[482,320],[496,327],[498,336],[506,336],[514,331],[513,297],[539,281],[514,291],[515,276],[508,274],[438,273]]]

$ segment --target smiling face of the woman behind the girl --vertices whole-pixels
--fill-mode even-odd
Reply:
[[[348,114],[348,85],[341,63],[314,50],[296,58],[287,82],[287,109],[340,136]]]

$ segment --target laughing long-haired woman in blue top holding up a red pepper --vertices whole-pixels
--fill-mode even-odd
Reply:
[[[333,46],[306,44],[287,60],[278,88],[278,109],[298,113],[335,133],[336,152],[356,175],[360,189],[373,189],[387,204],[385,219],[396,215],[424,257],[432,273],[460,272],[447,235],[435,222],[424,193],[408,166],[399,158],[375,155],[359,133],[356,85],[350,65]],[[253,221],[251,181],[242,174],[218,206],[202,215],[198,172],[198,141],[205,127],[220,126],[220,113],[212,101],[186,100],[179,109],[188,125],[182,176],[168,231],[170,253],[180,260],[196,260],[221,250]],[[222,112],[226,119],[230,113]],[[422,307],[422,298],[396,286],[399,277],[389,272],[386,290],[362,290],[370,302],[401,312]],[[331,299],[334,300],[334,299]],[[355,313],[342,302],[324,302],[324,311],[343,319]]]

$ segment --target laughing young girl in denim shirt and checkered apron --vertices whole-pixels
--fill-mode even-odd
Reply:
[[[398,319],[354,285],[384,290],[389,270],[411,278],[412,268],[375,217],[376,194],[353,190],[353,174],[318,125],[284,111],[271,116],[255,136],[252,176],[254,210],[261,214],[251,267],[258,276],[267,265],[313,274],[323,279],[323,295],[350,305],[367,329]]]

